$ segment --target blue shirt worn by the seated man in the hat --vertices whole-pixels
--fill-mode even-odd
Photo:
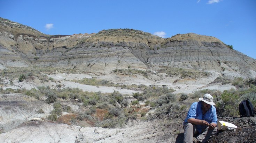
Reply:
[[[188,110],[188,113],[187,113],[187,117],[184,121],[184,125],[186,123],[188,123],[187,120],[190,119],[190,118],[205,120],[209,124],[210,123],[217,124],[218,119],[217,119],[217,114],[216,114],[216,108],[214,106],[211,106],[210,109],[203,115],[203,108],[202,108],[201,102],[203,102],[203,101],[194,102],[190,106],[190,108]],[[196,129],[199,133],[201,133],[202,128],[205,127],[205,126],[202,126],[202,125],[195,125],[195,126],[196,126]]]

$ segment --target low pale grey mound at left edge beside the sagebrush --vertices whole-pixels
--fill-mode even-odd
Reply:
[[[53,107],[22,94],[0,95],[0,132],[10,131],[34,117],[47,117]],[[39,113],[41,109],[44,113]]]

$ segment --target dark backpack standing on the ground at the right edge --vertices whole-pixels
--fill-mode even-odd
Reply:
[[[240,117],[254,117],[253,104],[251,104],[250,100],[243,100],[239,104],[239,114]]]

